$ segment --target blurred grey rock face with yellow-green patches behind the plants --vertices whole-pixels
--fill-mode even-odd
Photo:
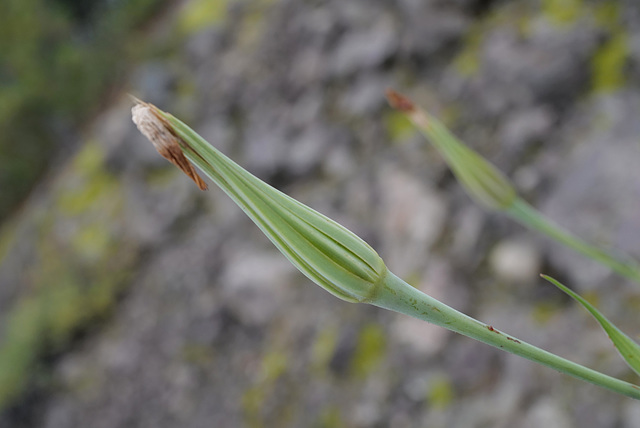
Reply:
[[[638,287],[474,206],[384,100],[412,95],[555,221],[639,257],[637,6],[542,3],[192,0],[130,90],[421,290],[633,380],[537,273],[632,335]],[[0,426],[636,426],[638,403],[313,286],[129,107],[2,230]]]

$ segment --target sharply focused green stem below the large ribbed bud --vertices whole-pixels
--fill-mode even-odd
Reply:
[[[410,286],[389,272],[372,305],[460,333],[578,379],[640,400],[640,387],[581,366],[477,321]]]

